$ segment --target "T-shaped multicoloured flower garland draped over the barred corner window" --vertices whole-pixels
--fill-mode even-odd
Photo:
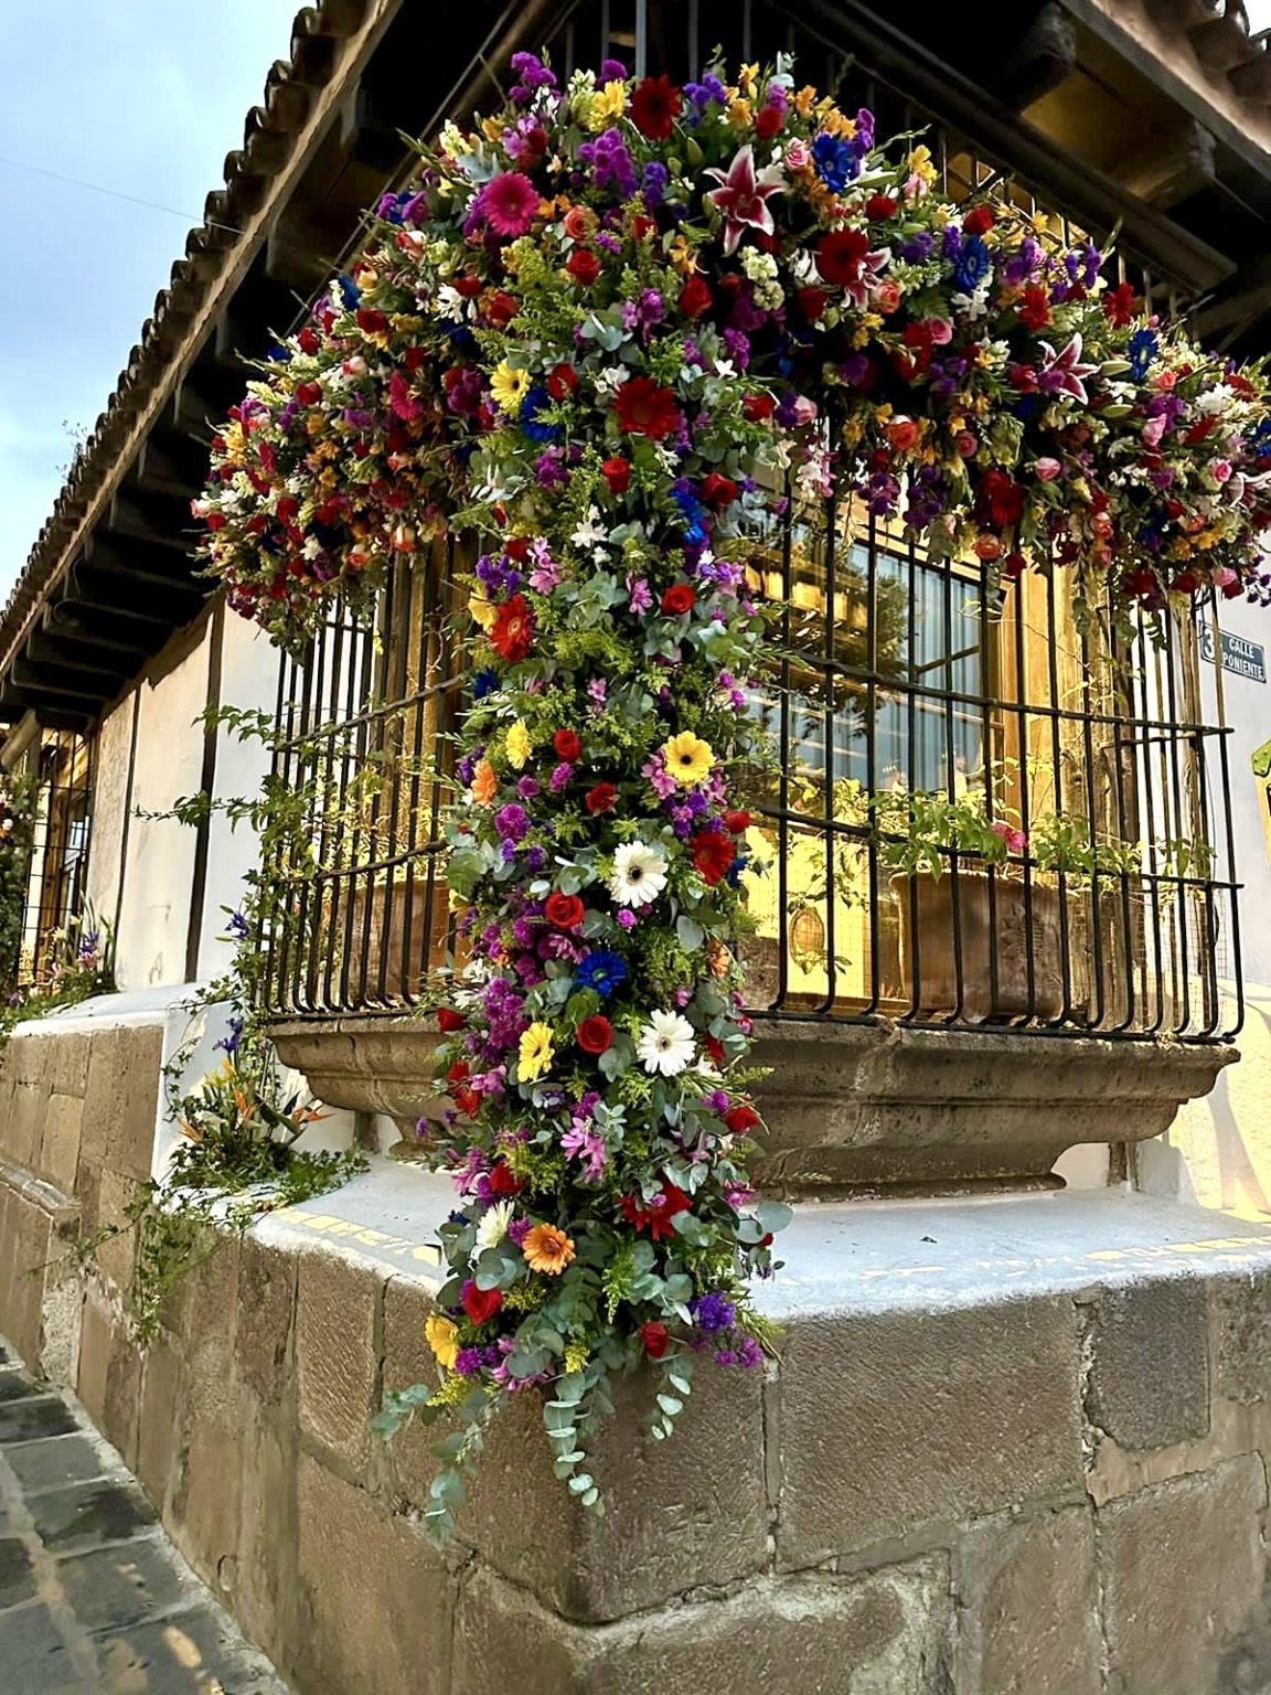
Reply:
[[[446,529],[475,681],[449,883],[469,964],[437,1010],[461,1205],[429,1320],[461,1407],[432,1524],[508,1392],[551,1383],[556,1468],[613,1373],[756,1364],[749,1024],[732,953],[761,756],[747,554],[830,481],[1002,585],[1071,566],[1085,609],[1257,597],[1271,517],[1261,370],[1205,358],[1107,286],[1090,244],[932,192],[786,63],[700,83],[624,66],[449,125],[351,276],[278,349],[197,502],[230,603],[300,649],[369,612]],[[830,427],[829,419],[834,419]]]

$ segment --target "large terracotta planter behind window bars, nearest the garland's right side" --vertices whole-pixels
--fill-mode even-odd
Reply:
[[[1025,897],[1024,883],[996,878],[990,905],[988,878],[961,871],[954,914],[954,878],[920,873],[893,876],[891,898],[900,919],[902,995],[920,1014],[957,1010],[973,1022],[1059,1017],[1064,961],[1056,888],[1034,883]]]

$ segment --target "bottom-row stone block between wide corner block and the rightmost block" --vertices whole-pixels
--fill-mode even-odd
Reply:
[[[954,1688],[1102,1695],[1090,1507],[986,1519],[959,1539]]]

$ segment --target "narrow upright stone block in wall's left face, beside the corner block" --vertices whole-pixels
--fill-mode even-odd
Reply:
[[[314,1253],[300,1261],[295,1339],[300,1429],[349,1464],[363,1461],[376,1410],[383,1283],[383,1271],[336,1254]]]

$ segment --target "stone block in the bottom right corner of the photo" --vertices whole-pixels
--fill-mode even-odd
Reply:
[[[1110,1695],[1229,1695],[1222,1663],[1257,1622],[1263,1461],[1227,1459],[1108,1502],[1098,1568]],[[1227,1661],[1230,1663],[1230,1661]],[[1271,1663],[1246,1687],[1271,1680]]]

